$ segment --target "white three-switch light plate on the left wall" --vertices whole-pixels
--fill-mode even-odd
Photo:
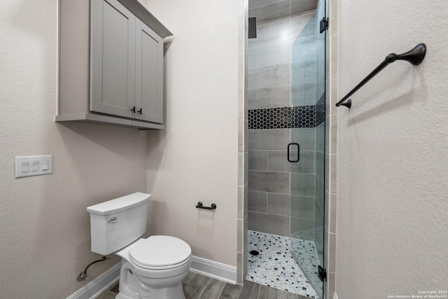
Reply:
[[[47,168],[47,169],[45,169]],[[38,176],[53,173],[52,155],[30,155],[15,157],[15,177]]]

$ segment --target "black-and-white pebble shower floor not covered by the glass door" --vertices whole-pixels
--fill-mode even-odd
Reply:
[[[309,298],[319,298],[290,253],[290,237],[248,230],[247,242],[248,281]],[[312,242],[307,243],[314,249]],[[251,255],[253,250],[258,251],[258,256]]]

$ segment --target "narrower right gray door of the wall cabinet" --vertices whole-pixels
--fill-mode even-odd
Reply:
[[[163,40],[136,19],[135,44],[137,118],[163,123]]]

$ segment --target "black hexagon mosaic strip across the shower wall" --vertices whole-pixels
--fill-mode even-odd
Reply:
[[[251,109],[248,111],[249,130],[317,127],[324,121],[325,93],[316,105]]]

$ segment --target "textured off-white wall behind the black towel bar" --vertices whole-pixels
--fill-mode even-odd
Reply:
[[[339,98],[388,53],[396,61],[338,109],[339,299],[418,295],[448,281],[448,3],[339,1]]]

